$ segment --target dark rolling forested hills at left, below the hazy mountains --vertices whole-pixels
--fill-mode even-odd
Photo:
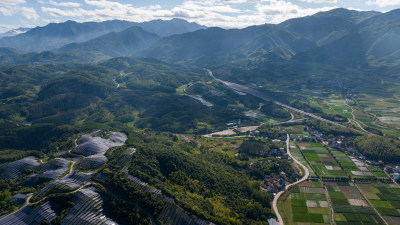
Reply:
[[[39,150],[93,127],[208,133],[241,115],[175,94],[183,84],[207,81],[203,69],[152,59],[14,66],[0,77],[0,149]]]

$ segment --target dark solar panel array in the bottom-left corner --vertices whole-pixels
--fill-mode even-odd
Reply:
[[[37,206],[32,210],[26,206],[20,211],[0,219],[1,225],[37,225],[43,220],[51,222],[57,217],[49,202]]]

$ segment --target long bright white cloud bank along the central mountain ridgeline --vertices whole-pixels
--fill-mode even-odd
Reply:
[[[81,22],[111,19],[144,22],[181,18],[206,26],[243,28],[264,23],[280,23],[287,19],[335,8],[302,8],[288,0],[187,0],[170,9],[162,8],[160,5],[136,7],[134,3],[123,4],[112,0],[84,0],[84,2],[91,6],[90,9],[43,6],[41,10],[52,17],[60,19],[70,17]]]

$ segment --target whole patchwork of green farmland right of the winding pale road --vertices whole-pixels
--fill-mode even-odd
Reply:
[[[319,143],[291,141],[289,147],[311,180],[280,197],[284,224],[400,223],[400,189],[379,167]]]

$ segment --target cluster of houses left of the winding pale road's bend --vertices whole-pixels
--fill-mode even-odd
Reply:
[[[291,176],[286,176],[285,172],[283,171],[276,176],[266,175],[264,177],[264,184],[262,186],[262,189],[264,189],[268,193],[277,193],[285,189],[286,182],[293,183],[297,181],[297,178],[298,176],[294,172]]]

